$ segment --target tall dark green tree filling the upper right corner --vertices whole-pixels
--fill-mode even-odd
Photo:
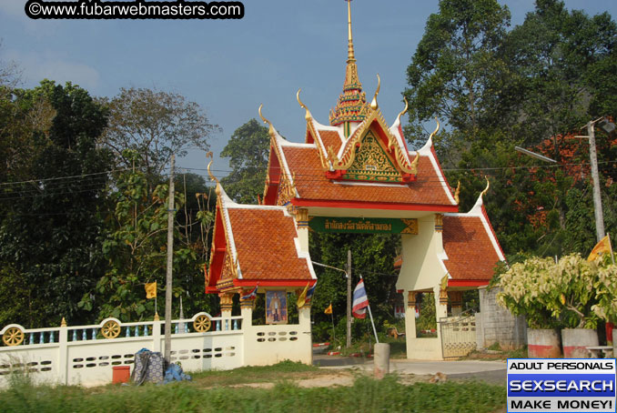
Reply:
[[[495,102],[492,116],[501,126],[516,127],[518,144],[553,139],[550,156],[561,160],[566,136],[617,111],[610,106],[616,47],[617,25],[608,13],[590,17],[568,11],[560,0],[538,0],[501,47],[501,58],[511,66],[507,95],[517,97]]]

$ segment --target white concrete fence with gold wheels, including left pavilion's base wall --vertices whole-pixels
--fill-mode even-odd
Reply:
[[[300,315],[299,324],[278,326],[252,326],[250,309],[244,308],[243,316],[238,317],[198,313],[192,318],[173,320],[171,361],[179,361],[188,372],[268,365],[284,359],[310,363],[310,321],[305,311],[300,311]],[[209,322],[209,329],[195,331],[196,321]],[[113,367],[131,366],[141,348],[163,351],[164,326],[162,320],[122,323],[116,318],[90,326],[6,326],[0,330],[6,338],[3,341],[11,341],[10,336],[14,342],[23,337],[23,342],[17,346],[2,343],[0,388],[8,386],[13,372],[27,372],[37,384],[110,383]],[[116,337],[106,338],[104,332]]]

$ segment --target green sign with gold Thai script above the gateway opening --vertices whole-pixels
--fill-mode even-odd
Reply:
[[[415,218],[310,217],[309,227],[316,232],[418,235]]]

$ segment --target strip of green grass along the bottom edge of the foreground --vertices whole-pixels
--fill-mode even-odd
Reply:
[[[288,371],[288,366],[282,368]],[[246,373],[247,370],[244,370]],[[254,372],[260,375],[264,371]],[[308,370],[300,370],[306,373]],[[278,373],[278,369],[270,374]],[[241,375],[241,373],[238,373]],[[211,378],[220,378],[213,375]],[[218,385],[218,383],[216,383]],[[271,389],[200,388],[180,382],[167,386],[32,387],[27,383],[0,393],[0,412],[12,413],[191,413],[191,412],[460,412],[490,413],[505,406],[503,387],[481,383],[416,383],[404,386],[395,376],[356,378],[352,387],[298,388],[278,381]]]

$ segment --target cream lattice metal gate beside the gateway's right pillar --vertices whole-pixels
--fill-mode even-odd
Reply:
[[[440,319],[443,358],[467,356],[476,349],[476,316],[460,315]]]

